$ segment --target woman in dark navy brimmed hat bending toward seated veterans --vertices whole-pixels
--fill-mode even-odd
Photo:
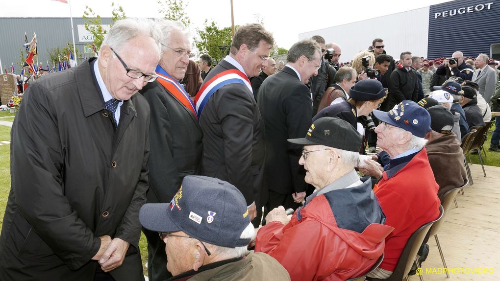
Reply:
[[[373,109],[377,109],[387,96],[387,88],[375,79],[358,81],[349,90],[349,99],[323,108],[313,118],[312,122],[321,117],[338,117],[349,122],[356,130],[364,135],[364,129],[369,121],[359,120],[360,116],[367,117]],[[360,122],[361,121],[361,122]]]

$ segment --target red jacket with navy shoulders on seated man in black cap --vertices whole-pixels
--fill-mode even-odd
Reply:
[[[382,254],[384,238],[392,231],[391,227],[382,224],[361,222],[362,219],[356,216],[367,211],[368,216],[378,213],[377,220],[385,220],[371,185],[364,187],[365,184],[362,193],[349,192],[359,188],[354,187],[314,197],[305,207],[295,211],[285,226],[279,222],[265,225],[257,232],[255,252],[264,252],[276,259],[292,281],[345,280],[363,274]],[[355,198],[345,200],[349,195],[342,197],[340,193],[349,193]],[[339,212],[335,215],[331,205],[333,197],[340,197],[340,201],[345,202],[334,202],[334,205],[342,205],[338,206]],[[352,204],[359,198],[359,202],[355,202],[359,204]],[[339,219],[338,225],[350,220],[356,226],[366,223],[367,227],[363,227],[362,233],[340,228],[335,218]]]

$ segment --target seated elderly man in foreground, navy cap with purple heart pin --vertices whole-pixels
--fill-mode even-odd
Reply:
[[[165,242],[169,280],[290,280],[276,260],[246,250],[255,232],[227,182],[186,176],[170,203],[145,204],[139,220]]]

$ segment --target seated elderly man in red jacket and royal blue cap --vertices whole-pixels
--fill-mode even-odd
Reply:
[[[368,277],[390,277],[409,237],[439,216],[438,185],[423,147],[430,131],[429,113],[403,100],[388,112],[374,110],[380,124],[377,145],[390,157],[374,192],[394,230],[385,238],[385,257]]]

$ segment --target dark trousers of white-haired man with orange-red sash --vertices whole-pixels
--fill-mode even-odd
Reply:
[[[142,229],[147,240],[147,278],[149,281],[163,281],[172,277],[166,270],[165,243],[155,231]]]

